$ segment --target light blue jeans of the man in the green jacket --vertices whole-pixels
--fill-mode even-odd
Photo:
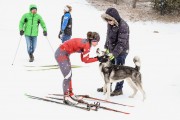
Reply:
[[[25,36],[28,54],[33,54],[36,49],[37,36]]]

